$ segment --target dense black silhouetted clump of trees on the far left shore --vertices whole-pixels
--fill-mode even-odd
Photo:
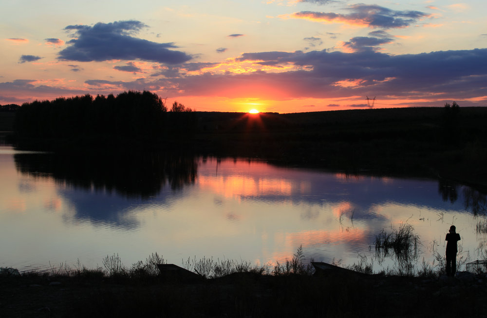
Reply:
[[[67,139],[112,137],[145,141],[187,138],[194,111],[175,101],[168,111],[163,100],[149,91],[114,96],[89,94],[24,103],[16,111],[19,138]]]

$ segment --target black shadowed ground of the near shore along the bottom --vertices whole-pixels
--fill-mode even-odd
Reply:
[[[232,274],[202,282],[0,278],[1,317],[486,317],[487,279]]]

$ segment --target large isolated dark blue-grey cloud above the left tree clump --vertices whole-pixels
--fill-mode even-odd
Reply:
[[[135,38],[142,28],[140,21],[98,22],[94,26],[68,25],[75,39],[67,42],[67,48],[59,52],[59,60],[80,62],[104,60],[146,60],[166,64],[180,64],[192,57],[176,48],[174,43],[156,43]]]

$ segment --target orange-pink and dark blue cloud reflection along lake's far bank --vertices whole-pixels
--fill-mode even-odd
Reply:
[[[393,179],[320,173],[270,166],[262,161],[206,160],[199,168],[199,187],[224,198],[323,207],[332,205],[336,218],[389,219],[390,203],[462,211],[460,202],[438,200],[433,180]],[[317,219],[320,210],[301,208],[303,219]]]

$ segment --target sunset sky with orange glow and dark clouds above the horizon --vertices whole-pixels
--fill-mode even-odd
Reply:
[[[2,0],[0,104],[148,90],[196,111],[487,106],[485,0]]]

